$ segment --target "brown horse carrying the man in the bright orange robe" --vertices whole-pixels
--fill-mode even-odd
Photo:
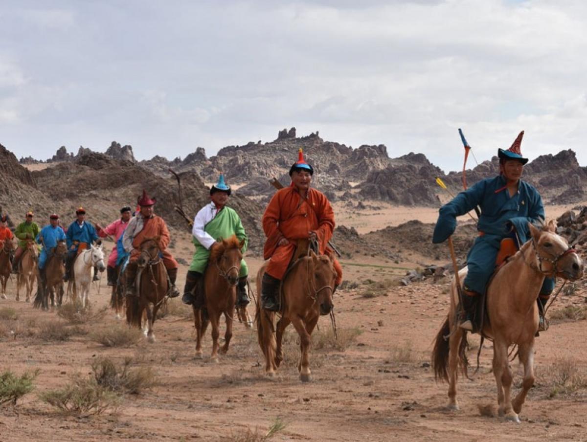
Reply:
[[[301,249],[300,246],[298,242],[298,249]],[[305,249],[308,249],[307,244]],[[265,265],[257,273],[258,291],[261,290],[264,272]],[[257,303],[257,335],[265,356],[267,376],[275,376],[275,370],[283,360],[281,340],[285,328],[292,323],[300,340],[299,377],[302,382],[311,380],[308,355],[311,335],[319,316],[328,315],[332,311],[335,279],[332,259],[310,251],[309,255],[296,259],[284,276],[281,284],[281,319],[275,328],[275,312],[263,309],[261,301]],[[261,299],[260,296],[258,298]]]

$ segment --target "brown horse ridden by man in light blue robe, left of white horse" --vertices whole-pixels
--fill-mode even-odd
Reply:
[[[63,302],[63,275],[65,275],[65,265],[63,259],[68,251],[65,240],[58,241],[56,247],[50,251],[50,256],[45,262],[45,283],[41,284],[38,279],[37,292],[33,307],[41,307],[43,310],[49,310],[49,296],[51,298],[51,307],[55,307],[55,290],[57,289],[57,306],[60,307]]]

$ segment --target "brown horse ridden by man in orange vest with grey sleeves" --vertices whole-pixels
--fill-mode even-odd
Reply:
[[[167,270],[161,261],[159,238],[145,238],[139,246],[139,271],[135,282],[136,294],[126,299],[126,322],[141,328],[143,312],[147,312],[147,340],[155,342],[153,322],[169,292]]]

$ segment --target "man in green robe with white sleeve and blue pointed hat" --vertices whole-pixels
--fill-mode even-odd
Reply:
[[[185,277],[184,295],[181,301],[188,305],[193,304],[195,308],[204,306],[204,293],[202,293],[201,289],[198,289],[198,286],[208,264],[210,251],[217,244],[217,239],[230,238],[232,235],[236,235],[239,241],[243,239],[245,241],[241,251],[244,253],[247,250],[248,238],[245,228],[242,227],[241,218],[234,209],[226,206],[230,193],[230,186],[224,182],[224,175],[221,174],[220,178],[218,178],[218,183],[212,185],[210,189],[211,203],[201,208],[194,218],[192,230],[194,238],[192,238],[192,242],[195,245],[195,252],[190,269]],[[237,307],[245,306],[249,303],[246,289],[248,274],[247,263],[242,259],[238,275]],[[195,298],[192,294],[194,289]]]

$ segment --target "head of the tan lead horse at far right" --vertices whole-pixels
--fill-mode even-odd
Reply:
[[[583,261],[566,239],[556,234],[556,222],[549,220],[542,228],[528,223],[539,271],[570,281],[583,277]]]

